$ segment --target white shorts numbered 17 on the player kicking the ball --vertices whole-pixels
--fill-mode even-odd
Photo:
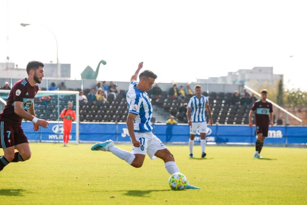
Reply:
[[[166,149],[165,145],[152,132],[134,132],[136,140],[140,142],[140,147],[132,146],[132,154],[142,154],[150,157],[151,160],[157,159],[154,154],[161,149]]]

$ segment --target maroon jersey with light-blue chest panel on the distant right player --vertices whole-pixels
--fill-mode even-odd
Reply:
[[[261,100],[258,100],[254,102],[251,110],[256,111],[256,126],[262,128],[269,127],[269,113],[273,112],[272,103],[269,103],[268,101],[264,103]]]

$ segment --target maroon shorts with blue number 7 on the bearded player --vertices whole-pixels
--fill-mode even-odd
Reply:
[[[29,142],[21,126],[0,120],[0,148],[8,148],[22,143]]]

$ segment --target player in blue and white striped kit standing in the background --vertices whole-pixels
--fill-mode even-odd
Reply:
[[[200,85],[195,86],[195,96],[190,98],[188,103],[188,124],[190,125],[190,157],[193,157],[193,146],[194,137],[196,135],[197,129],[200,132],[200,146],[201,146],[201,157],[205,157],[206,148],[206,134],[207,134],[207,121],[206,121],[206,109],[209,115],[209,125],[212,125],[211,109],[209,106],[208,97],[203,96],[202,89]]]

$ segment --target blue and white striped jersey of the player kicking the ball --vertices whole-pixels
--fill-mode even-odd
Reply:
[[[153,107],[146,92],[137,89],[137,81],[132,81],[127,93],[129,112],[136,114],[134,120],[134,132],[151,132]]]

